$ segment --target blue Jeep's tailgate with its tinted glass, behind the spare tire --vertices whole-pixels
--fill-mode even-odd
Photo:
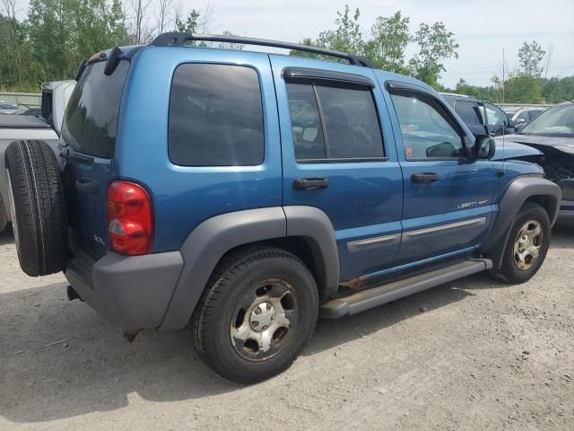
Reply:
[[[68,102],[60,139],[65,145],[68,224],[73,239],[96,259],[108,250],[106,194],[129,62],[121,60],[109,76],[104,66],[95,63],[83,72]]]

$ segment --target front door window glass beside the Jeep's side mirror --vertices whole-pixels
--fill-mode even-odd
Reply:
[[[415,92],[392,93],[407,160],[459,158],[463,139],[438,101]]]

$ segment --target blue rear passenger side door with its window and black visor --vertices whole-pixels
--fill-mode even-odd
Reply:
[[[270,56],[283,205],[323,210],[343,281],[393,265],[403,186],[387,106],[370,68]]]

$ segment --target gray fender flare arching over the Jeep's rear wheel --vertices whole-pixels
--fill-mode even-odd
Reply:
[[[339,257],[333,225],[314,207],[268,207],[214,216],[199,224],[181,246],[184,267],[176,284],[161,330],[187,325],[209,277],[223,255],[252,242],[304,236],[318,263],[317,283],[326,290],[339,284]]]

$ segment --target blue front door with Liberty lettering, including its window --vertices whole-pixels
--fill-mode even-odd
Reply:
[[[467,157],[465,139],[472,137],[431,92],[396,85],[390,91],[404,181],[397,264],[472,250],[494,210],[491,163]]]

